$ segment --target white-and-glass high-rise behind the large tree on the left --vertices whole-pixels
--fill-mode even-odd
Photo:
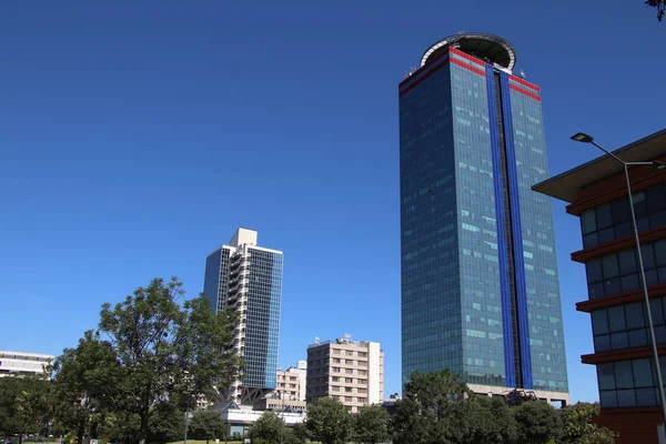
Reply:
[[[205,263],[204,294],[215,313],[239,313],[234,351],[245,365],[228,402],[254,404],[276,387],[283,253],[256,244],[256,231],[238,229]]]

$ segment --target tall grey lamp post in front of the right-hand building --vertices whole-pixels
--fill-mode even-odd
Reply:
[[[649,307],[649,295],[647,292],[647,282],[645,281],[645,268],[643,266],[643,253],[640,252],[640,238],[638,236],[638,226],[636,224],[636,213],[634,212],[634,196],[632,195],[632,182],[629,180],[629,167],[637,165],[650,165],[657,170],[666,169],[666,162],[654,160],[650,162],[625,162],[604,147],[599,145],[594,141],[594,138],[583,132],[572,135],[572,140],[576,142],[591,143],[610,155],[613,159],[623,164],[625,171],[625,180],[627,183],[627,194],[629,196],[629,209],[632,212],[632,225],[634,226],[634,238],[636,240],[636,252],[638,255],[638,268],[640,269],[640,281],[643,282],[643,295],[645,296],[645,312],[647,313],[647,325],[649,330],[649,336],[652,340],[653,359],[655,361],[655,369],[657,373],[657,384],[659,387],[659,400],[662,402],[662,416],[664,420],[664,432],[666,433],[666,396],[664,395],[664,381],[662,379],[662,367],[659,365],[659,353],[657,352],[657,341],[655,340],[655,325],[653,324],[652,310]]]

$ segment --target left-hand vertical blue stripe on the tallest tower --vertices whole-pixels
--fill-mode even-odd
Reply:
[[[507,387],[516,386],[516,370],[514,366],[514,344],[511,315],[511,287],[508,284],[508,249],[504,220],[504,184],[502,182],[502,152],[500,147],[500,130],[497,128],[497,109],[495,91],[495,71],[486,64],[486,88],[488,92],[488,120],[491,123],[491,149],[493,153],[493,185],[495,189],[495,219],[497,220],[497,253],[500,260],[500,291],[502,296],[502,335],[504,340],[504,374]]]

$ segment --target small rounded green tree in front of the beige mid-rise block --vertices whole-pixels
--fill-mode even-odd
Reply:
[[[323,444],[345,443],[352,432],[352,417],[340,401],[320,397],[307,408],[305,427],[314,441]]]

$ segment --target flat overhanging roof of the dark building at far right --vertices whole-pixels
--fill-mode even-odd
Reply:
[[[575,143],[575,142],[572,142]],[[613,151],[625,162],[649,162],[666,155],[666,129]],[[532,190],[572,203],[578,190],[622,173],[624,167],[608,154],[557,174],[532,186]]]

